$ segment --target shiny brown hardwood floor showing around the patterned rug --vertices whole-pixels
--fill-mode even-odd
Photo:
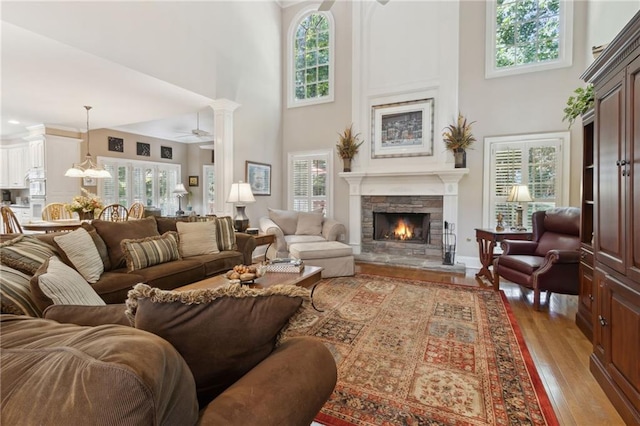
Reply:
[[[398,278],[488,287],[475,278],[477,271],[466,274],[431,272],[419,269],[358,263],[358,273]],[[589,372],[591,342],[575,324],[577,296],[553,294],[549,302],[542,295],[541,310],[533,310],[533,293],[508,281],[500,281],[511,310],[553,409],[561,425],[624,425],[609,399]]]

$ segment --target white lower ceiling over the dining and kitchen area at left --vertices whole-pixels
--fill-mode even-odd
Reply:
[[[86,130],[112,128],[178,142],[203,142],[192,130],[213,132],[213,99],[1,22],[2,140],[45,124]],[[11,124],[9,121],[19,121]]]

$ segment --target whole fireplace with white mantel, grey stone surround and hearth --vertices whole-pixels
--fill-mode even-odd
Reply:
[[[442,260],[444,221],[458,222],[458,182],[468,169],[340,173],[349,183],[349,245],[354,254],[385,253]],[[386,218],[378,216],[387,214]],[[418,216],[413,216],[419,214]],[[409,218],[407,229],[391,220]]]

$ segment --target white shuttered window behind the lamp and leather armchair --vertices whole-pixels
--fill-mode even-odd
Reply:
[[[513,185],[527,185],[532,202],[525,203],[523,224],[531,229],[531,215],[569,201],[569,134],[537,134],[485,139],[486,226],[496,224],[501,213],[506,227],[516,223],[516,203],[507,202]]]

